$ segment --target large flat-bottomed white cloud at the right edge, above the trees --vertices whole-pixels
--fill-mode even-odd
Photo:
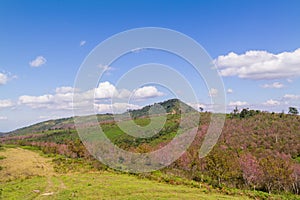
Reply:
[[[222,76],[248,79],[280,79],[300,76],[300,48],[272,54],[267,51],[229,53],[215,59]]]

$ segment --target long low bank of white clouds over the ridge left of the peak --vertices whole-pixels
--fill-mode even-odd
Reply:
[[[25,105],[31,108],[45,108],[50,110],[71,110],[73,109],[73,96],[80,101],[76,102],[76,108],[84,108],[87,105],[95,105],[96,111],[108,112],[114,110],[118,112],[126,109],[137,109],[139,106],[127,103],[108,104],[109,99],[128,99],[133,96],[136,99],[148,99],[163,95],[154,86],[145,86],[135,91],[117,89],[110,82],[101,82],[97,88],[88,91],[79,91],[72,87],[56,88],[54,94],[40,96],[23,95],[18,99],[18,105]]]

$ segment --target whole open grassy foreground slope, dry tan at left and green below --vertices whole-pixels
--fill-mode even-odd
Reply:
[[[247,199],[108,171],[59,174],[50,158],[21,148],[0,156],[0,199]]]

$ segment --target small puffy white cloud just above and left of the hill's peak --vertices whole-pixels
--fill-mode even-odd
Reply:
[[[159,92],[154,86],[144,86],[133,91],[133,99],[148,99],[163,96],[162,92]]]

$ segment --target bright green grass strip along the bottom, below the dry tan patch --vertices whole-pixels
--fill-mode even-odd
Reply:
[[[86,173],[15,180],[2,188],[3,199],[247,199],[205,194],[125,174]]]

